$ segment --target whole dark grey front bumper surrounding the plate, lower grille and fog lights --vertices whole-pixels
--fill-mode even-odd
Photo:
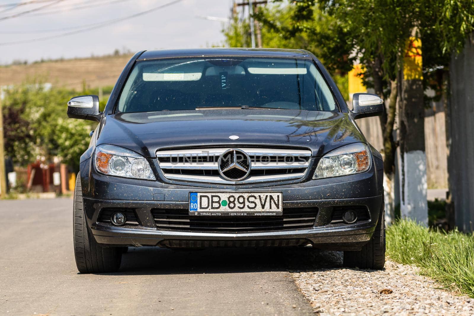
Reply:
[[[89,169],[91,170],[91,169]],[[168,184],[159,181],[123,179],[81,172],[84,210],[95,240],[105,246],[283,246],[312,244],[331,250],[360,249],[370,240],[383,205],[382,186],[374,166],[368,172],[288,183],[239,187]],[[283,192],[285,208],[317,208],[314,226],[273,231],[213,232],[160,230],[151,214],[154,208],[188,209],[194,191]],[[368,218],[354,224],[331,223],[333,210],[341,206],[364,206]],[[131,208],[139,226],[112,226],[99,221],[104,208]],[[235,218],[235,217],[234,217]],[[238,220],[238,218],[235,218]]]

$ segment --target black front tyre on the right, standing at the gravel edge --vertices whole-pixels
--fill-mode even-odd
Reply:
[[[372,239],[360,251],[345,251],[343,264],[349,268],[383,269],[385,265],[385,209],[383,203]]]

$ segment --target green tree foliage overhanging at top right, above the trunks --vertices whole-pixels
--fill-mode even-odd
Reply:
[[[437,92],[442,86],[439,73],[428,70],[446,67],[451,53],[462,50],[466,36],[474,31],[473,0],[273,2],[255,13],[262,24],[264,47],[308,49],[333,74],[350,70],[357,56],[368,73],[377,71],[385,78],[385,96],[413,30],[422,40],[425,87]],[[225,31],[227,44],[248,47],[249,30],[248,21],[234,18]],[[374,86],[371,77],[365,76],[368,87]]]

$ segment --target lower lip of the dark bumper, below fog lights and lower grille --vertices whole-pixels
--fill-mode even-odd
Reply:
[[[328,250],[357,250],[370,240],[373,224],[352,227],[316,227],[307,230],[257,233],[195,233],[173,231],[144,231],[94,225],[95,240],[111,246],[292,246],[312,244]]]

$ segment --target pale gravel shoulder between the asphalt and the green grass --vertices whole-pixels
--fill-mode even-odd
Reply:
[[[333,267],[296,271],[301,293],[320,315],[473,315],[474,299],[440,289],[418,268],[385,262],[384,271],[345,269],[342,254],[320,253]],[[334,268],[339,266],[339,268]]]

